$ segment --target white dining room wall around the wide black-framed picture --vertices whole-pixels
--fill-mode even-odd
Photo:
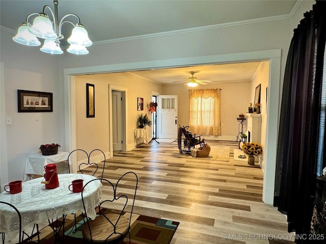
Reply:
[[[4,63],[5,108],[3,114],[11,117],[12,125],[2,123],[7,136],[7,162],[2,167],[1,184],[23,179],[26,156],[39,153],[41,144],[62,140],[59,57],[46,55],[38,48],[14,43],[12,34],[1,31],[1,62]],[[53,112],[18,113],[17,89],[53,93]],[[3,148],[3,145],[2,145]],[[2,158],[3,150],[1,151]],[[2,165],[4,162],[2,162]],[[5,179],[7,179],[5,181]]]

